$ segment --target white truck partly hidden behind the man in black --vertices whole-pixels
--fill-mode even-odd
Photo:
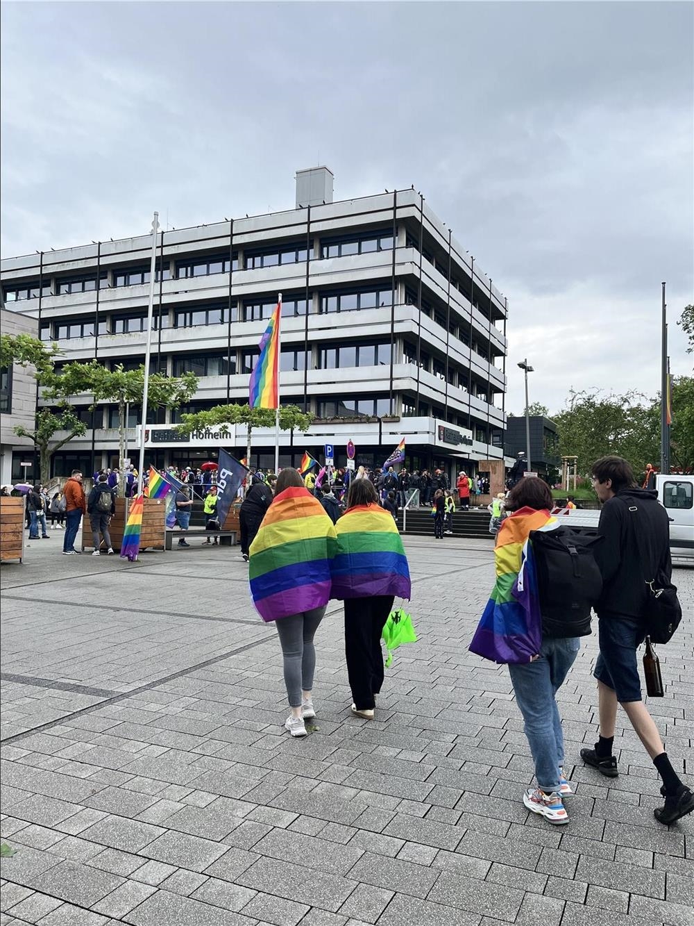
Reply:
[[[655,477],[658,500],[670,519],[670,552],[673,560],[694,566],[694,476]],[[568,518],[572,527],[597,531],[599,510],[554,508],[555,517]]]

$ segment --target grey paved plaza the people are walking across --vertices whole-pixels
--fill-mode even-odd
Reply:
[[[316,635],[315,731],[291,739],[277,633],[237,548],[61,557],[2,579],[2,923],[41,926],[692,926],[694,817],[669,830],[649,758],[595,740],[595,634],[559,698],[570,822],[532,781],[508,671],[467,652],[491,541],[405,540],[419,642],[376,720],[350,716],[341,605]],[[694,571],[651,711],[694,778]],[[570,801],[570,803],[569,803]]]

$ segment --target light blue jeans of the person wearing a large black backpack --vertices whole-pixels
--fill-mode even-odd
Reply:
[[[515,700],[525,720],[535,777],[547,793],[559,790],[559,769],[564,765],[564,733],[554,695],[574,664],[580,645],[580,637],[547,637],[539,659],[508,667]]]

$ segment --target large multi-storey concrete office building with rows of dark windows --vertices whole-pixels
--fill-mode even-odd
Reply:
[[[66,357],[137,365],[150,254],[151,237],[143,236],[9,258],[3,294]],[[475,471],[477,460],[502,458],[506,299],[421,194],[160,232],[157,254],[153,368],[200,375],[192,407],[183,410],[247,401],[257,344],[281,292],[281,399],[316,417],[321,442],[325,422],[353,421],[360,430],[366,423],[358,452],[364,462],[382,462],[392,449],[378,440],[386,419],[396,432],[411,432],[407,419],[428,419],[408,439],[410,467]],[[91,425],[86,396],[81,413]],[[178,414],[159,409],[148,423],[175,423]],[[111,464],[116,415],[99,407],[93,430],[56,455],[55,471]],[[458,432],[457,449],[431,436],[437,421]],[[139,422],[131,409],[132,444]],[[314,447],[312,436],[298,457]],[[200,456],[214,458],[208,449]],[[270,465],[271,451],[271,443],[254,444],[252,462]],[[339,454],[336,465],[345,461]],[[189,461],[179,448],[153,462]]]

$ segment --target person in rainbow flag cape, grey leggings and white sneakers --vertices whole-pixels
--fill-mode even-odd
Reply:
[[[320,502],[296,469],[282,469],[251,544],[249,577],[256,610],[277,627],[291,708],[284,728],[291,736],[305,736],[304,721],[316,717],[314,637],[330,598],[335,549],[335,528]]]

